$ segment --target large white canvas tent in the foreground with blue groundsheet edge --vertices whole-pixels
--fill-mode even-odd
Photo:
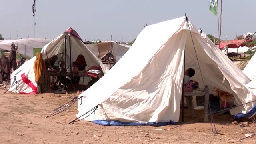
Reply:
[[[76,116],[103,125],[178,122],[184,69],[194,68],[192,79],[203,88],[196,54],[206,85],[234,94],[235,104],[256,99],[244,86],[250,79],[204,33],[181,17],[146,26],[119,62],[79,95],[83,97],[78,100]],[[97,105],[95,114],[82,116]],[[230,111],[236,116],[246,114],[254,105]]]

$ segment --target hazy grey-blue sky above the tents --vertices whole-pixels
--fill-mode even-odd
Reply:
[[[34,0],[0,0],[0,34],[34,38]],[[220,3],[220,0],[219,0]],[[256,0],[223,0],[222,39],[256,32]],[[218,35],[209,0],[36,0],[36,38],[54,39],[71,26],[82,40],[129,42],[144,28],[187,14],[196,28]]]

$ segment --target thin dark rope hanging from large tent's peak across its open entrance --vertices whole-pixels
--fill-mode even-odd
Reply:
[[[188,17],[187,16],[186,16],[186,21],[187,21],[187,24],[188,24],[188,29],[189,29],[189,32],[190,32],[190,36],[191,36],[191,40],[192,40],[192,43],[193,43],[193,47],[194,47],[194,50],[195,50],[195,53],[196,53],[196,48],[195,48],[195,44],[194,44],[194,40],[193,40],[193,37],[192,37],[192,33],[191,33],[191,30],[190,30],[190,26],[189,26],[189,22],[188,22]],[[203,82],[203,85],[204,85],[204,88],[205,88],[204,78],[203,78],[203,75],[202,75],[202,70],[201,70],[201,67],[200,67],[200,64],[199,64],[197,53],[196,53],[196,60],[197,60],[198,67],[199,67],[199,70],[200,70],[200,75],[202,77],[202,82]],[[212,124],[213,124],[214,125],[214,129],[215,129],[215,132],[214,132],[213,128],[212,128],[212,132],[214,134],[218,134],[218,132],[216,130],[216,127],[215,127],[214,118],[212,116],[212,109],[210,107],[210,102],[209,101],[208,101],[208,105],[209,105],[210,112],[211,112],[211,127],[212,127]]]

